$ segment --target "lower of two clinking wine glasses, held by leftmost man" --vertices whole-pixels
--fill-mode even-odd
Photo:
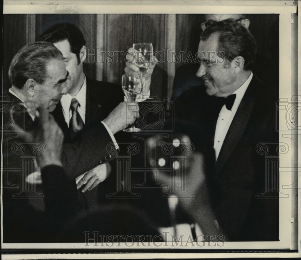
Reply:
[[[122,89],[127,101],[137,102],[142,92],[142,77],[140,73],[128,73],[122,76]],[[133,124],[124,132],[139,132],[140,129]]]

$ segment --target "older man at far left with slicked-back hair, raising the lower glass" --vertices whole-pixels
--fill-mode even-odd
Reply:
[[[14,56],[9,78],[12,87],[3,96],[2,104],[4,242],[39,242],[41,237],[38,234],[42,236],[45,228],[44,196],[38,187],[41,175],[34,162],[35,156],[44,148],[40,143],[22,142],[11,132],[11,125],[34,130],[36,115],[24,103],[33,100],[52,112],[62,95],[67,93],[69,73],[62,53],[52,43],[36,42],[24,46]],[[109,122],[107,125],[115,122],[113,131],[125,128],[127,122],[131,123],[131,118],[132,122],[135,121],[137,113],[125,111],[126,102],[122,102],[104,119]],[[101,120],[96,121],[82,132],[80,138],[64,143],[65,171],[69,176],[70,172],[78,176],[101,164],[100,160],[105,156],[109,160],[107,144],[110,142],[107,126]]]

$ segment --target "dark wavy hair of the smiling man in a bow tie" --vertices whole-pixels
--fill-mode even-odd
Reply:
[[[201,34],[201,41],[206,41],[214,32],[219,33],[219,51],[224,53],[226,60],[231,61],[242,56],[245,60],[244,70],[253,69],[257,47],[248,29],[232,19],[210,22]]]

